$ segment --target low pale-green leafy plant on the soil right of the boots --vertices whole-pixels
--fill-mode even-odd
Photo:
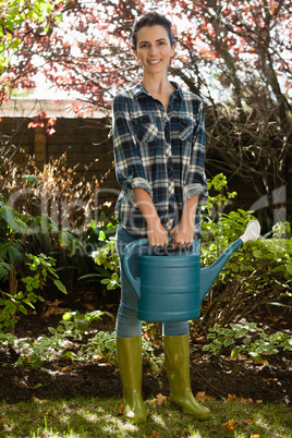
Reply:
[[[253,337],[257,339],[253,340]],[[209,355],[218,355],[223,349],[229,349],[232,358],[240,354],[247,354],[257,362],[261,360],[261,356],[278,353],[279,349],[292,351],[292,337],[290,334],[277,331],[268,336],[255,323],[230,324],[230,328],[220,327],[216,324],[209,328],[207,338],[211,342],[204,345],[203,350]]]

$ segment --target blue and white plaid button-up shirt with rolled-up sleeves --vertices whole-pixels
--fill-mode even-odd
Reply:
[[[205,175],[205,120],[199,97],[172,83],[168,111],[142,86],[113,99],[113,153],[122,192],[115,217],[131,234],[147,236],[134,187],[147,191],[161,224],[170,231],[180,221],[183,203],[199,195],[195,238],[200,235],[200,207],[208,197]]]

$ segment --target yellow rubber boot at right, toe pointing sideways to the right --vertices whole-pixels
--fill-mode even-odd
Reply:
[[[170,382],[169,401],[197,419],[208,419],[210,411],[194,398],[190,379],[190,337],[166,336],[166,370]]]

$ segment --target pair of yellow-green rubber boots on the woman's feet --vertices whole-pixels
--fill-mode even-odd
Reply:
[[[171,388],[169,401],[196,419],[208,419],[210,411],[196,401],[191,389],[188,334],[166,336],[163,343]],[[117,348],[123,386],[123,417],[135,424],[146,422],[142,398],[142,337],[117,338]]]

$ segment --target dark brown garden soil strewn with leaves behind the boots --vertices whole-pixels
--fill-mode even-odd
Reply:
[[[99,303],[100,304],[100,303]],[[62,305],[62,303],[61,303]],[[117,304],[110,309],[117,314]],[[93,303],[87,311],[93,309]],[[19,338],[36,339],[49,336],[48,327],[57,327],[61,314],[60,302],[47,305],[46,312],[20,317],[15,326]],[[265,329],[275,331],[275,321]],[[277,330],[287,330],[288,321],[277,321]],[[261,326],[263,327],[263,326]],[[108,317],[95,321],[93,330],[113,331],[114,321]],[[161,337],[160,337],[161,338]],[[191,381],[195,394],[216,399],[233,398],[254,402],[292,403],[292,354],[279,352],[254,363],[246,357],[230,360],[227,356],[208,357],[203,352],[204,338],[191,331]],[[156,354],[162,353],[161,342],[157,343]],[[35,369],[27,365],[15,365],[17,355],[13,350],[0,346],[0,400],[8,403],[44,399],[122,398],[119,369],[105,362],[69,362],[56,358]],[[144,364],[143,396],[145,399],[158,394],[169,394],[169,382],[165,370],[157,377],[149,364]],[[204,397],[204,396],[203,396]]]

